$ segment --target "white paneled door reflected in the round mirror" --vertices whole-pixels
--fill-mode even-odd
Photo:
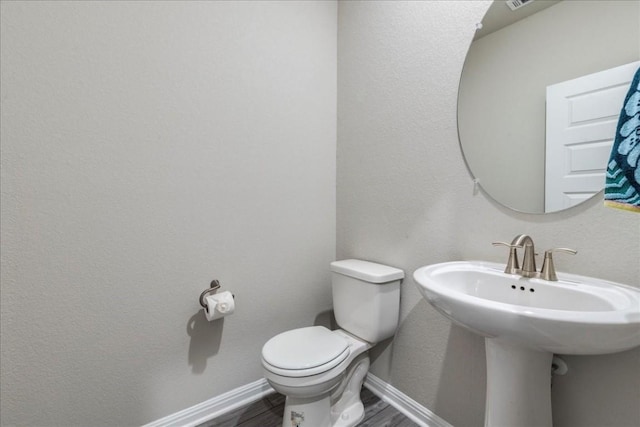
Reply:
[[[545,212],[600,190],[624,97],[640,61],[547,87]]]

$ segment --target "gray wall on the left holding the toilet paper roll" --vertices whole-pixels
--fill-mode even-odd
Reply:
[[[1,424],[140,425],[259,379],[331,307],[336,3],[1,12]],[[213,278],[237,307],[208,323]]]

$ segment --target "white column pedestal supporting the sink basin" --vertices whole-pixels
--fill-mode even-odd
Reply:
[[[485,427],[551,427],[553,353],[485,338]]]

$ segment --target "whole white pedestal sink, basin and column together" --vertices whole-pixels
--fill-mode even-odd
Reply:
[[[558,273],[558,281],[461,261],[419,268],[422,295],[485,337],[485,426],[551,426],[553,353],[606,354],[640,346],[640,289]]]

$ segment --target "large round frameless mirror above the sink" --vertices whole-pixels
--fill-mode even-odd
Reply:
[[[639,21],[638,1],[494,1],[478,25],[458,92],[460,146],[493,199],[545,213],[602,190],[637,69],[630,63],[640,59]],[[575,88],[574,81],[625,64],[632,70],[626,83],[604,84],[613,94]]]

